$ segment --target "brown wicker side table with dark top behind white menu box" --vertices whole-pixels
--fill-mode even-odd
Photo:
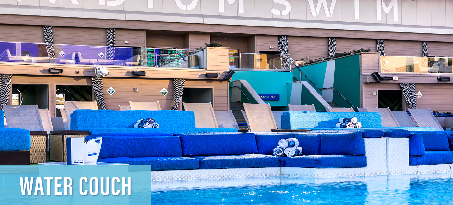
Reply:
[[[49,146],[51,161],[66,161],[66,137],[87,137],[88,131],[50,131]]]

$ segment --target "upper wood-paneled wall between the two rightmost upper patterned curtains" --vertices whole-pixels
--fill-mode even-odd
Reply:
[[[386,55],[388,56],[422,56],[423,42],[409,40],[386,40]]]

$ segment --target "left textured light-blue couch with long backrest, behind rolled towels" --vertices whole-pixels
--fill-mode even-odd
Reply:
[[[152,117],[159,128],[134,128],[143,118]],[[71,114],[71,130],[90,131],[92,134],[117,132],[237,132],[229,128],[196,128],[193,111],[116,111],[75,110]]]

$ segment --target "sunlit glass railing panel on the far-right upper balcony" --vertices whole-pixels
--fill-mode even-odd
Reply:
[[[452,58],[381,56],[381,73],[452,73]]]

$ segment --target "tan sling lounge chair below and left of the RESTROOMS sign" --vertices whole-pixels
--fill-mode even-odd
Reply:
[[[251,132],[270,132],[277,129],[270,104],[243,104]]]

